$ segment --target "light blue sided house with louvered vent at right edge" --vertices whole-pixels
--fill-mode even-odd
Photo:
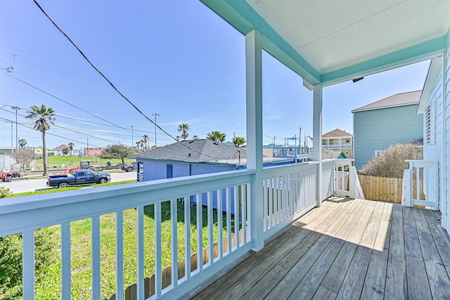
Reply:
[[[418,117],[421,117],[423,120],[423,160],[438,162],[439,178],[430,178],[429,184],[439,186],[439,192],[438,195],[427,195],[427,197],[438,200],[438,208],[442,212],[441,224],[447,230],[447,233],[450,233],[448,216],[450,181],[446,180],[449,174],[447,159],[450,154],[450,140],[447,141],[450,133],[448,121],[450,117],[449,44],[450,40],[447,41],[448,50],[446,51],[444,63],[442,56],[432,60],[417,109]],[[443,105],[443,103],[445,104]],[[432,188],[430,189],[430,194],[434,194]]]

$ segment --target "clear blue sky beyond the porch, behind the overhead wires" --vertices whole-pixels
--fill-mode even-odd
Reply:
[[[171,133],[212,130],[245,137],[245,39],[199,1],[39,1],[99,70],[148,117]],[[15,61],[13,63],[13,56]],[[5,69],[13,63],[12,72]],[[351,110],[395,93],[423,88],[429,62],[347,81],[323,91],[323,133],[352,132]],[[24,83],[25,82],[25,83]],[[32,87],[34,86],[34,87]],[[39,91],[40,90],[40,91]],[[299,127],[312,135],[312,92],[287,67],[263,53],[264,144],[283,143]],[[18,136],[41,145],[26,109],[56,112],[47,146],[131,145],[155,127],[121,98],[31,0],[0,1],[0,146]],[[6,105],[6,106],[4,106]],[[8,106],[10,105],[10,106]],[[131,132],[133,126],[133,132]],[[158,145],[173,140],[161,131]]]

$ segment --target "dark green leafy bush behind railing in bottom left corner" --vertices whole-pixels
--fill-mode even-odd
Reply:
[[[36,282],[56,261],[58,241],[53,228],[34,231],[34,274]],[[22,296],[22,234],[0,237],[0,299]]]

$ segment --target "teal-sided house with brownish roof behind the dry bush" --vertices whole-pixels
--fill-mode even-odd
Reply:
[[[422,116],[416,114],[421,93],[399,93],[352,110],[356,169],[390,145],[423,139]]]

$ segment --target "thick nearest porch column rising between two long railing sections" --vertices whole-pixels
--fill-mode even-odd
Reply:
[[[253,249],[264,247],[262,199],[262,35],[252,30],[245,35],[245,77],[247,97],[247,169],[256,170],[250,192]]]

